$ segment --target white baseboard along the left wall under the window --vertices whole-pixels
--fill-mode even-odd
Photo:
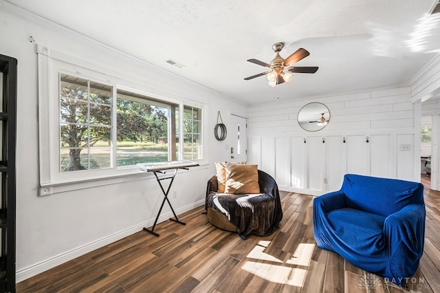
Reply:
[[[175,210],[175,213],[177,215],[179,215],[181,213],[185,213],[188,210],[192,210],[193,208],[197,208],[198,206],[202,206],[204,204],[205,204],[205,199],[202,199],[202,200],[199,200],[198,202],[194,202],[192,204],[189,204],[188,206],[178,208],[177,210]],[[157,223],[161,223],[163,221],[166,221],[170,217],[174,217],[174,215],[171,211],[169,213],[164,214],[164,215],[160,215],[159,219],[157,220]],[[124,230],[116,232],[116,233],[109,235],[107,237],[97,239],[96,241],[87,243],[87,244],[80,246],[78,248],[74,248],[74,249],[69,250],[67,252],[64,252],[62,254],[58,254],[54,257],[51,257],[50,259],[46,259],[44,261],[40,261],[39,263],[35,263],[34,265],[30,265],[27,268],[19,269],[16,272],[16,283],[19,283],[21,281],[25,281],[26,279],[29,279],[32,276],[36,276],[37,274],[40,274],[41,272],[45,272],[46,270],[50,270],[51,268],[54,268],[57,265],[61,265],[62,263],[65,263],[67,261],[71,261],[72,259],[75,259],[76,257],[80,257],[81,255],[84,255],[88,252],[91,252],[93,250],[96,250],[98,248],[106,246],[110,243],[118,241],[124,237],[129,236],[129,235],[133,235],[135,232],[139,232],[144,227],[151,227],[154,224],[154,220],[155,219],[149,219],[148,221],[137,224],[133,227],[126,228]]]

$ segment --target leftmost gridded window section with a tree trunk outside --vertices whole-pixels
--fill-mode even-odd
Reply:
[[[111,87],[60,76],[60,170],[111,166]]]

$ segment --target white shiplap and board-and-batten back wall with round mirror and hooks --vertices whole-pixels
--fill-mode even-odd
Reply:
[[[281,190],[312,195],[338,190],[345,173],[419,181],[421,107],[410,98],[410,87],[399,87],[250,107],[248,161]],[[321,131],[298,124],[309,102],[330,110]]]

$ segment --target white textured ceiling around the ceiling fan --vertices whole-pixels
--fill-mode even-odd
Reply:
[[[404,85],[440,50],[434,0],[6,0],[248,105]],[[248,63],[310,56],[274,88]],[[177,68],[171,58],[184,65]]]

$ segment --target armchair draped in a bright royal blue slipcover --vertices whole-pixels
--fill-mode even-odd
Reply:
[[[314,199],[314,236],[318,247],[402,285],[423,253],[423,185],[347,174],[340,191]]]

